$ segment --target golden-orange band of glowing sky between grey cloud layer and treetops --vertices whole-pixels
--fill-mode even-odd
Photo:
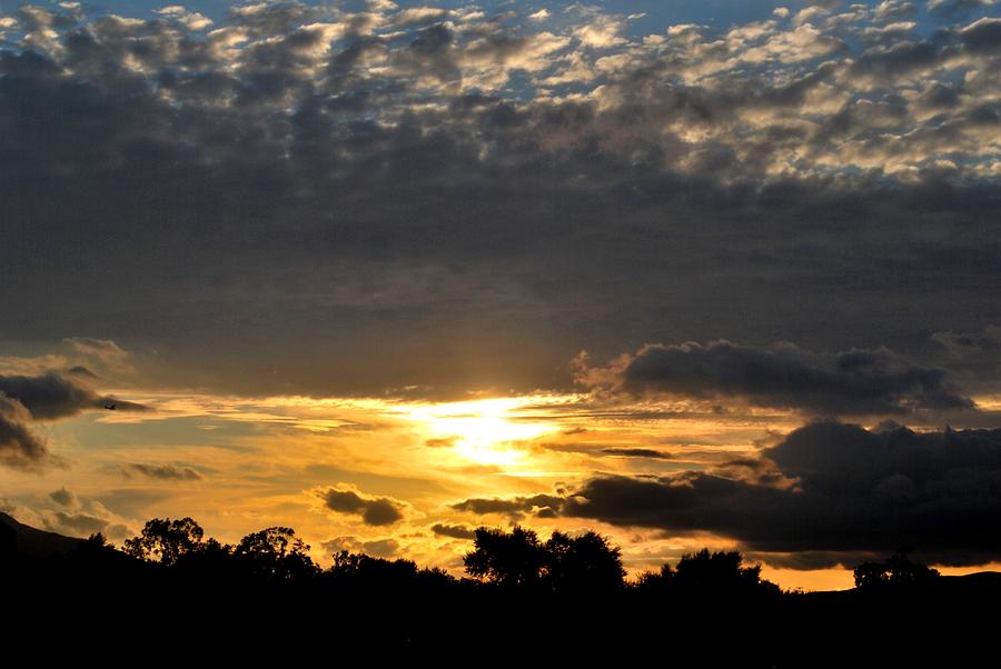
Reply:
[[[687,402],[677,416],[651,412],[642,403],[598,407],[581,393],[438,402],[136,390],[128,396],[151,411],[105,411],[52,426],[53,445],[85,467],[47,475],[38,497],[71,490],[81,513],[106,517],[133,533],[152,517],[191,516],[224,541],[262,527],[291,525],[313,545],[311,555],[320,563],[329,561],[335,545],[358,550],[366,545],[395,546],[387,557],[454,573],[462,572],[462,556],[472,545],[436,535],[430,528],[437,523],[472,528],[518,522],[541,537],[556,529],[594,529],[622,547],[631,576],[665,561],[674,565],[683,553],[703,546],[732,550],[732,541],[712,535],[665,540],[650,529],[576,518],[476,517],[452,505],[474,497],[552,492],[555,486],[572,486],[595,471],[663,476],[713,468],[734,457],[753,457],[776,430],[800,425],[792,413],[720,416],[696,402]],[[153,437],[138,431],[143,425]],[[135,435],[135,441],[128,435]],[[88,446],[108,439],[125,442],[105,451]],[[615,457],[606,452],[609,448],[656,450],[671,458]],[[127,471],[122,468],[132,461],[176,463],[204,473],[162,481],[122,476]],[[11,495],[39,489],[38,481],[20,477],[0,473],[0,481],[9,483]],[[402,519],[392,526],[367,526],[358,517],[324,508],[318,495],[335,485],[366,499],[389,499]],[[138,501],[130,501],[133,498]],[[46,511],[27,509],[21,516],[19,520],[42,527],[50,518]],[[949,575],[978,570],[940,568]],[[785,589],[853,585],[850,569],[794,570],[765,563],[762,576]]]

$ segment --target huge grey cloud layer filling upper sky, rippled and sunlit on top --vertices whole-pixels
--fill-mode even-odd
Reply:
[[[658,340],[926,352],[1001,288],[954,262],[997,238],[995,30],[863,39],[912,11],[881,8],[642,38],[599,10],[22,9],[4,334],[244,392],[566,386],[582,348]]]

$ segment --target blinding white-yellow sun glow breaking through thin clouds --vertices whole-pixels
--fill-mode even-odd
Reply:
[[[518,442],[536,439],[559,426],[527,420],[519,410],[537,398],[493,398],[464,402],[419,405],[407,409],[408,418],[423,426],[428,445],[437,442],[477,465],[518,467],[528,451]]]

